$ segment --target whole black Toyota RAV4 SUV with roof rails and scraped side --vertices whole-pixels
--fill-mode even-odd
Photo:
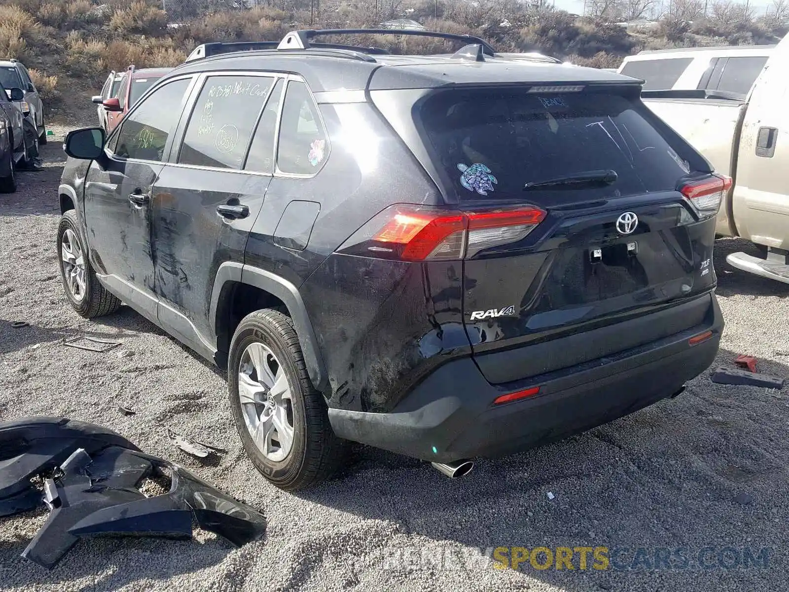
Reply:
[[[326,33],[200,47],[110,137],[65,141],[73,308],[125,302],[226,368],[266,478],[311,485],[349,440],[457,474],[709,366],[731,181],[641,81]]]

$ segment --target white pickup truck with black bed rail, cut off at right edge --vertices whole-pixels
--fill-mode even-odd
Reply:
[[[643,99],[734,179],[717,232],[761,245],[764,258],[732,253],[728,263],[789,283],[789,36],[745,99],[709,90],[645,91]]]

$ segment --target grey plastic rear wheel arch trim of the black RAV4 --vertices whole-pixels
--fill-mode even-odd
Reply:
[[[327,395],[326,366],[306,306],[298,288],[279,275],[233,261],[219,265],[209,310],[217,350],[224,354],[230,351],[230,340],[241,320],[239,310],[246,314],[260,308],[285,309],[282,312],[294,322],[312,385]]]

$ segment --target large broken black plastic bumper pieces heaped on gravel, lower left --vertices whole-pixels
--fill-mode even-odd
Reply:
[[[140,488],[162,472],[171,476],[169,492],[145,496]],[[43,478],[43,491],[34,478]],[[257,508],[141,452],[110,429],[66,418],[0,423],[0,516],[42,506],[50,509],[47,523],[22,556],[44,568],[57,564],[80,538],[190,538],[194,520],[241,546],[266,530]]]

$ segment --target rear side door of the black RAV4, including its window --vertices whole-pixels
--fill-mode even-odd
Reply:
[[[152,230],[159,323],[203,354],[214,350],[211,290],[222,263],[241,266],[271,159],[245,169],[252,138],[273,153],[282,79],[262,73],[204,74],[155,182]]]

